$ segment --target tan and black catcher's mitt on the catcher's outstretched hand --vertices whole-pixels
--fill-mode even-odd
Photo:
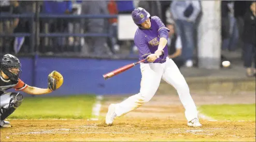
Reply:
[[[58,89],[63,84],[63,76],[58,71],[52,71],[48,75],[48,88],[52,91]]]

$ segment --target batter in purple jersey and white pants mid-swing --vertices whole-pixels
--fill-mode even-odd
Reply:
[[[201,127],[195,103],[190,95],[189,87],[172,59],[168,58],[166,46],[168,29],[159,17],[153,16],[143,8],[132,11],[134,23],[138,26],[134,43],[139,50],[141,83],[140,91],[118,104],[110,104],[106,115],[106,124],[111,125],[116,117],[123,116],[150,101],[158,90],[160,81],[174,86],[180,101],[185,108],[185,116],[190,127]]]

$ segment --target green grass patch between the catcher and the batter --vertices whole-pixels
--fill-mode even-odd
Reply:
[[[88,119],[96,97],[28,97],[8,119]]]

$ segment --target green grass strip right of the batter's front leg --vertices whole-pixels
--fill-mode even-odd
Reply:
[[[202,105],[198,110],[216,120],[255,121],[255,104]]]

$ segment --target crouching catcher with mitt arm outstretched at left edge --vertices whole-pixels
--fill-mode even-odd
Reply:
[[[11,127],[10,122],[4,121],[11,115],[22,103],[23,97],[20,92],[6,92],[10,88],[16,91],[23,91],[28,94],[46,94],[50,93],[63,84],[63,76],[52,71],[48,75],[48,88],[37,88],[25,84],[20,80],[21,64],[16,56],[11,54],[4,55],[0,64],[0,125],[1,128]]]

